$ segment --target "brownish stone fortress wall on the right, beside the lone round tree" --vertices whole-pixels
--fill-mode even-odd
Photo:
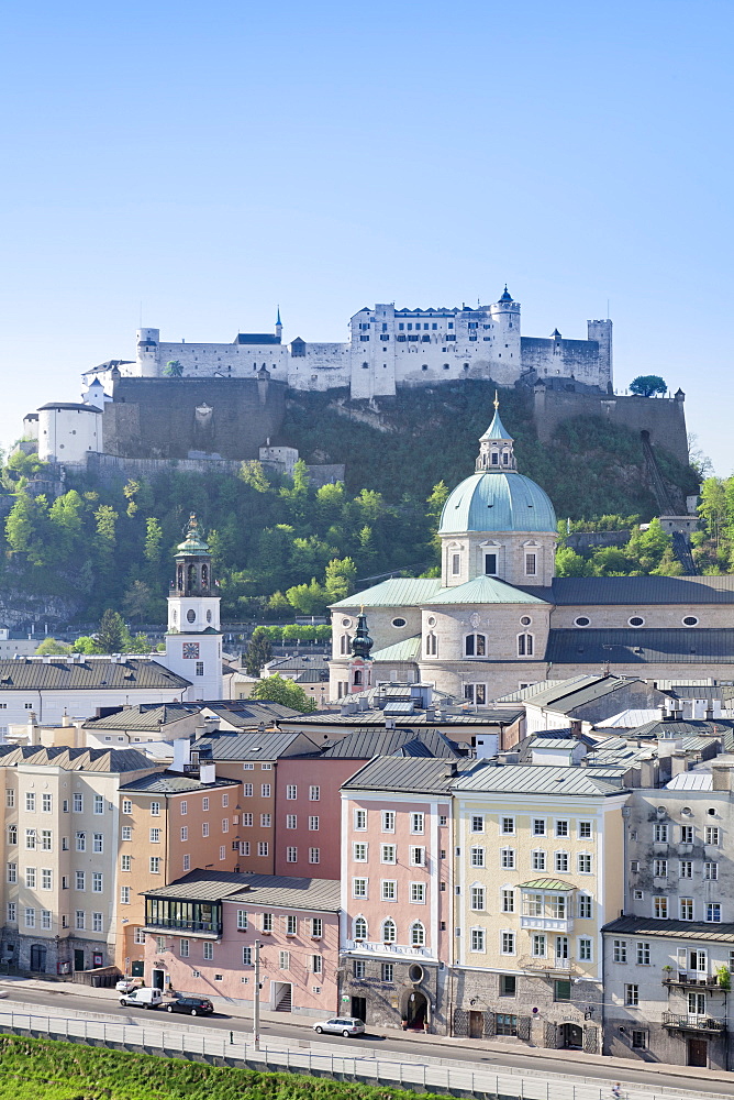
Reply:
[[[543,443],[549,443],[559,424],[574,417],[602,417],[631,431],[648,431],[650,443],[688,463],[683,402],[675,397],[616,397],[570,394],[538,387],[534,393],[535,424]]]

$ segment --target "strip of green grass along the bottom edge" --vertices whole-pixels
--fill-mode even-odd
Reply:
[[[216,1068],[179,1058],[0,1035],[0,1100],[418,1100],[418,1097],[400,1089],[299,1074]],[[430,1100],[437,1098],[432,1096]]]

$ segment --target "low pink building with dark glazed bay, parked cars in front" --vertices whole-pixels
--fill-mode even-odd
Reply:
[[[340,887],[325,879],[194,871],[145,894],[145,981],[264,1009],[337,1011]]]

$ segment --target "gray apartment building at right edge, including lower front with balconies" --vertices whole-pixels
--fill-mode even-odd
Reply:
[[[604,931],[604,1053],[732,1068],[734,759],[720,756],[624,813],[624,915]]]

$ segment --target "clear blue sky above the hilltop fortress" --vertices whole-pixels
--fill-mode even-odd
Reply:
[[[376,301],[614,322],[734,470],[732,0],[126,0],[0,16],[0,441],[163,340]]]

